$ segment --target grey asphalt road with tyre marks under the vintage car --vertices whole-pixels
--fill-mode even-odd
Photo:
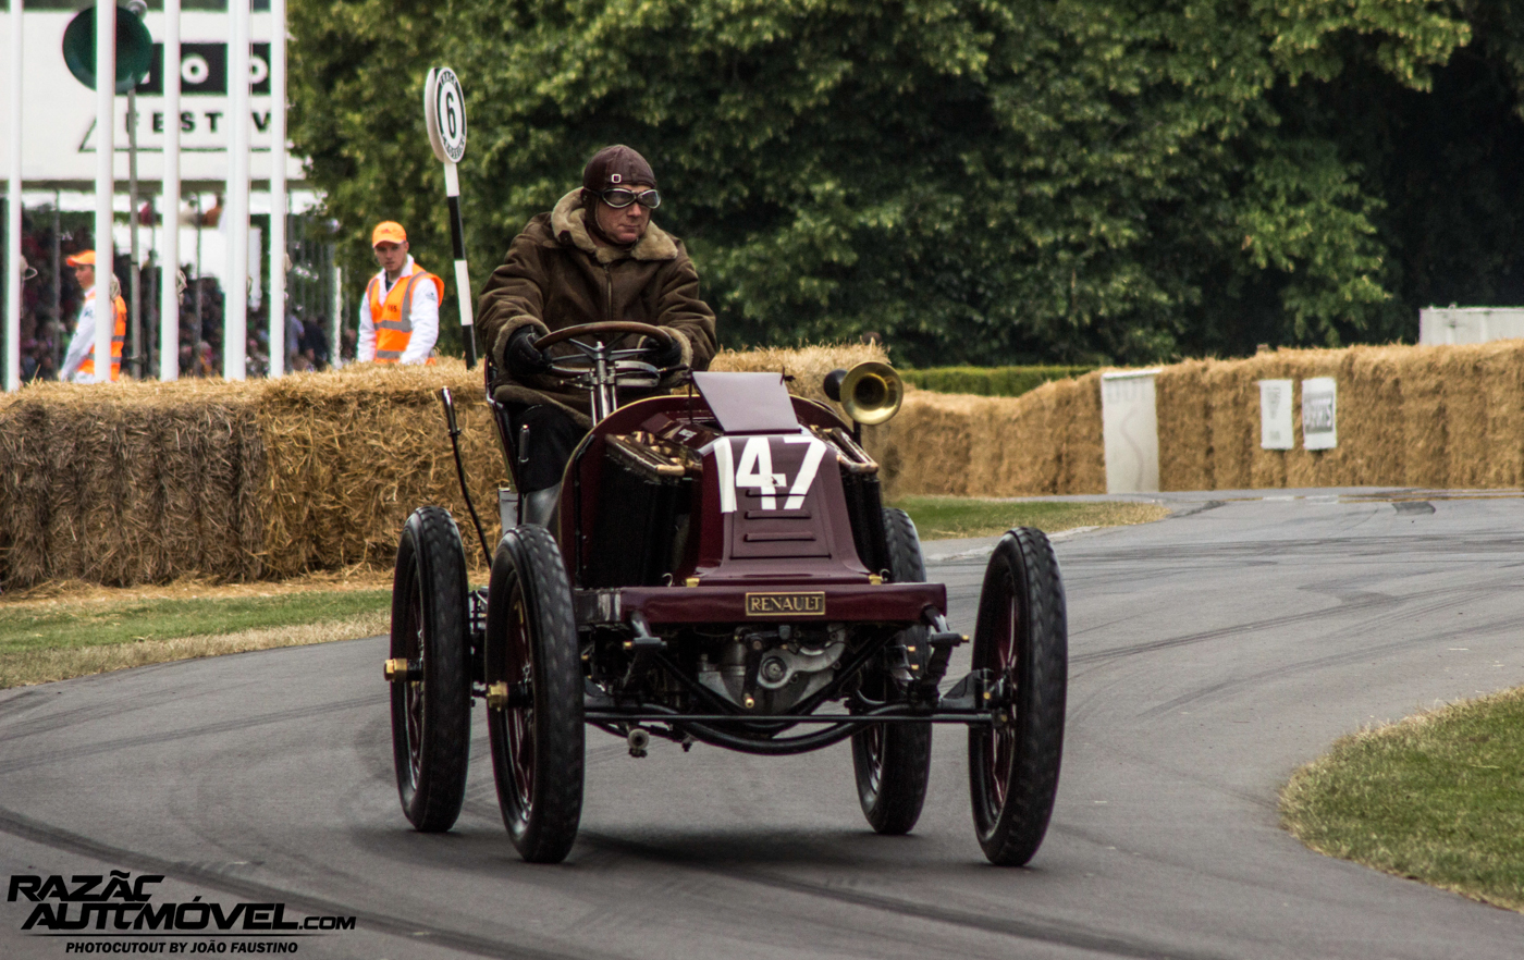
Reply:
[[[983,861],[959,728],[907,838],[867,829],[844,745],[636,760],[591,731],[581,840],[526,866],[480,725],[460,824],[415,834],[370,638],[0,692],[0,875],[355,917],[274,940],[305,957],[1518,957],[1524,916],[1311,853],[1276,792],[1341,733],[1524,683],[1524,498],[1315,494],[1059,544],[1068,742],[1029,869]],[[965,628],[980,547],[927,546]],[[0,904],[0,957],[119,943],[34,910]]]

